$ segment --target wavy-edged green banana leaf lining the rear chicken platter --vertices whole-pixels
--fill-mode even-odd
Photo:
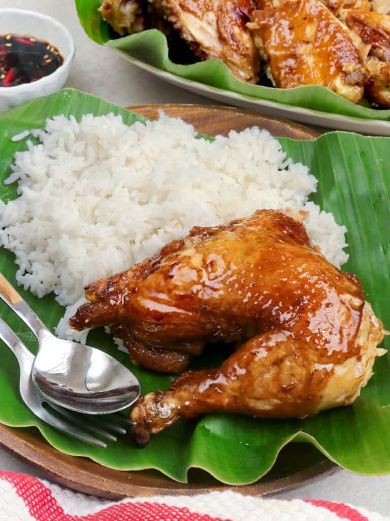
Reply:
[[[368,108],[369,104],[365,100],[355,105],[320,85],[304,85],[294,89],[250,85],[236,79],[222,61],[215,59],[178,65],[168,57],[168,45],[162,32],[150,29],[118,38],[118,34],[100,16],[98,8],[101,0],[75,0],[75,3],[80,22],[89,38],[98,44],[118,49],[124,58],[135,58],[174,76],[260,100],[355,118],[390,120],[390,110]]]

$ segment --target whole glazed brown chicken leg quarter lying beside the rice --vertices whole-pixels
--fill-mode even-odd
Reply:
[[[70,320],[76,329],[119,324],[147,350],[196,354],[216,340],[238,346],[218,369],[188,371],[170,390],[140,398],[131,413],[138,443],[179,418],[303,418],[358,396],[381,354],[382,324],[358,279],[310,244],[303,217],[259,210],[194,228],[86,288],[90,302]]]

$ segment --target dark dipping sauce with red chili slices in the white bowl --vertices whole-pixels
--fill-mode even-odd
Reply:
[[[0,35],[0,87],[39,80],[62,63],[58,49],[48,42],[18,34]]]

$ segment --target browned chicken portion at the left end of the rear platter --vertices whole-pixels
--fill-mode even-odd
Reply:
[[[121,35],[171,27],[201,60],[220,59],[237,78],[256,83],[259,57],[245,27],[255,7],[254,0],[103,0],[100,11]]]

